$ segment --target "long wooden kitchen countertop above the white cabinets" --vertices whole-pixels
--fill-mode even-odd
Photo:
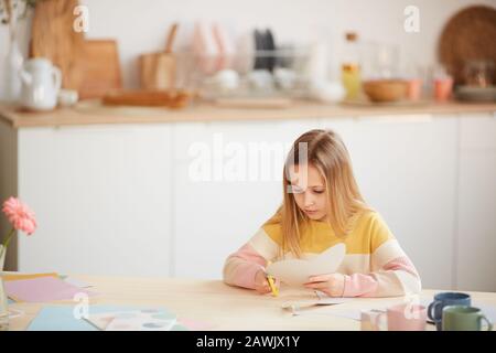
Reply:
[[[496,103],[438,104],[425,101],[401,106],[324,105],[295,101],[289,108],[225,108],[212,104],[194,104],[184,109],[154,107],[107,107],[98,100],[78,103],[73,108],[57,108],[46,113],[21,111],[0,104],[0,119],[13,128],[80,126],[98,124],[153,124],[176,121],[284,120],[301,118],[377,117],[390,115],[449,115],[495,113]]]

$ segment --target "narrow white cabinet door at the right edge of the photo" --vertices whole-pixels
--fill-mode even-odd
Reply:
[[[496,115],[461,118],[456,278],[496,291]]]

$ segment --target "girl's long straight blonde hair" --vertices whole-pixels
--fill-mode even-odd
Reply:
[[[306,148],[306,158],[300,154]],[[303,156],[304,157],[304,156]],[[325,181],[327,220],[337,236],[346,236],[353,227],[354,218],[360,211],[369,210],[362,196],[348,151],[341,137],[332,130],[315,129],[300,136],[293,143],[283,169],[283,202],[270,223],[280,223],[282,229],[281,254],[293,253],[301,257],[301,235],[309,225],[309,218],[300,210],[293,193],[289,192],[289,168],[301,163],[312,164]]]

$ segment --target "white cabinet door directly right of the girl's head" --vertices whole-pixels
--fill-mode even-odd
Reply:
[[[364,197],[412,259],[423,287],[452,287],[456,119],[357,118],[343,139]]]

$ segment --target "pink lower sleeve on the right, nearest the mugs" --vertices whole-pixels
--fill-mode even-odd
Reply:
[[[401,256],[384,265],[377,272],[345,275],[343,297],[403,296],[406,293],[405,286],[397,278],[395,271],[405,271],[411,275],[420,286],[420,277],[413,264],[407,256]]]

